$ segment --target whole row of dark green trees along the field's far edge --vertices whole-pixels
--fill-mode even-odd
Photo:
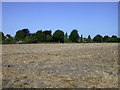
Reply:
[[[31,43],[113,43],[120,42],[120,38],[115,35],[111,37],[108,35],[102,36],[97,34],[94,38],[88,35],[83,38],[78,34],[77,29],[71,31],[70,35],[64,33],[62,30],[56,30],[53,34],[51,30],[38,30],[36,33],[30,33],[29,29],[18,30],[14,37],[10,34],[4,35],[0,32],[0,42],[2,44],[31,44]]]

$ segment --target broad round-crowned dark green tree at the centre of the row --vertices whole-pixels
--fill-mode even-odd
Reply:
[[[56,30],[53,33],[53,39],[55,42],[64,42],[64,32],[62,30]]]

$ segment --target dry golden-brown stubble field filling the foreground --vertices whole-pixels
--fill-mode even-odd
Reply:
[[[118,44],[2,45],[3,88],[117,88]]]

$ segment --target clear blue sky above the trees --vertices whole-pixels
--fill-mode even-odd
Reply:
[[[87,37],[96,34],[118,35],[117,2],[3,2],[2,30],[15,35],[28,28],[63,30],[68,34],[77,29]]]

